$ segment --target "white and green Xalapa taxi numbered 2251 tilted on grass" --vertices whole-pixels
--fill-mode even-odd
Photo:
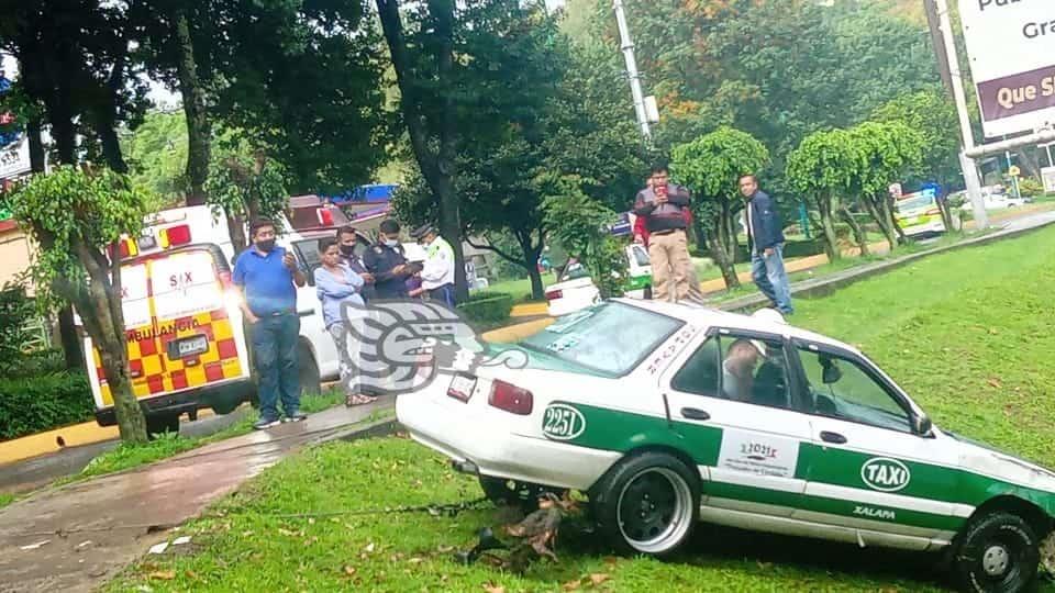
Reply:
[[[637,553],[669,555],[701,519],[944,550],[970,591],[1037,579],[1055,473],[937,428],[863,354],[774,311],[619,299],[517,347],[524,368],[441,376],[396,405],[492,499],[581,491]]]

